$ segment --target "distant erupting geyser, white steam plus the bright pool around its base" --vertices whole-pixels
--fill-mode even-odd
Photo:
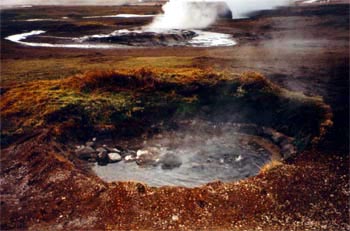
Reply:
[[[66,37],[63,39],[45,36],[46,38],[50,37],[50,43],[40,40],[40,34],[46,33],[41,30],[8,36],[6,39],[26,46],[63,48],[109,49],[123,46],[233,46],[236,42],[230,35],[198,29],[208,27],[218,17],[240,18],[244,17],[248,12],[273,8],[288,2],[290,0],[261,0],[259,2],[255,0],[170,0],[163,6],[164,14],[156,16],[151,24],[141,29],[116,30],[109,34],[81,36],[78,38]],[[140,15],[131,14],[127,16],[139,17]],[[110,15],[103,17],[110,17]],[[92,18],[95,18],[95,16]],[[33,36],[37,38],[35,41],[39,42],[23,41]]]

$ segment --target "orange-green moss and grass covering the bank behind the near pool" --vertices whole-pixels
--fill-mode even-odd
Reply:
[[[332,125],[332,112],[321,99],[283,90],[255,72],[235,75],[196,68],[141,68],[95,70],[62,80],[14,86],[4,93],[0,102],[5,123],[2,132],[56,124],[53,130],[62,134],[78,124],[91,128],[143,120],[150,108],[160,112],[171,107],[185,114],[194,113],[202,98],[216,104],[215,97],[229,104],[241,102],[242,107],[257,107],[262,110],[259,113],[269,111],[269,116],[296,121],[308,118],[312,127],[305,122],[298,124],[298,129],[303,130],[300,131],[303,137],[311,132],[314,143]],[[299,132],[288,125],[288,119],[281,119],[274,125],[287,125],[287,129],[294,129],[292,133]]]

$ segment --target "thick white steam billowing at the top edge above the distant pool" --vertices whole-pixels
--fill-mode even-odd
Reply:
[[[293,0],[170,0],[163,6],[164,14],[157,16],[149,29],[201,29],[214,23],[222,8],[206,2],[226,3],[233,18],[244,18],[247,13],[272,9]]]

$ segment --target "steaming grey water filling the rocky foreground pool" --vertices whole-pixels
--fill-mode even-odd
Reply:
[[[140,142],[135,153],[140,159],[146,154],[151,161],[96,164],[93,171],[108,182],[195,187],[254,176],[271,158],[268,150],[250,136],[238,133],[230,123],[183,121],[176,130],[162,131]]]

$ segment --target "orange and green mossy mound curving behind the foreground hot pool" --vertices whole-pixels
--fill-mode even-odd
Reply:
[[[200,116],[273,127],[304,146],[332,125],[321,98],[284,90],[254,72],[193,68],[90,71],[17,85],[3,94],[1,116],[5,145],[40,128],[71,139],[135,136],[152,123]]]

